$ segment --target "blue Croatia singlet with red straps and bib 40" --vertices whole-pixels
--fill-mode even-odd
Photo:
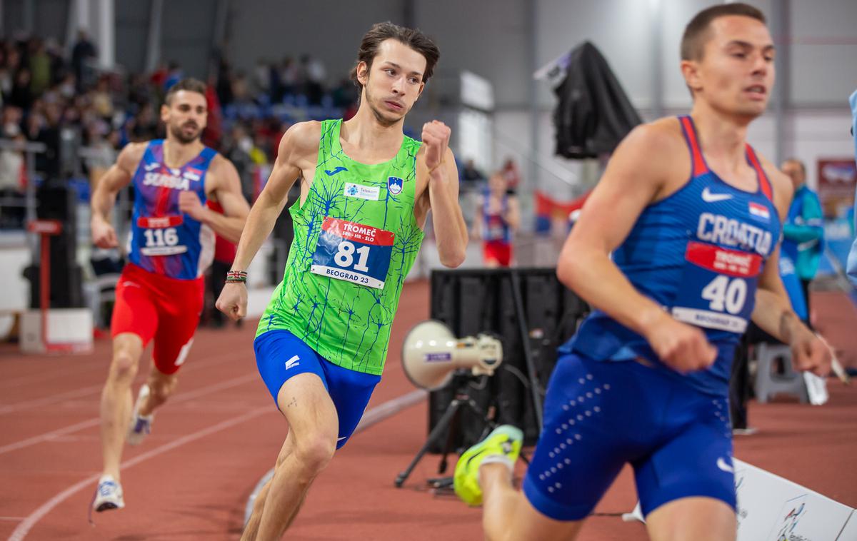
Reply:
[[[681,378],[707,393],[724,395],[734,348],[755,303],[758,275],[779,240],[781,224],[770,181],[755,152],[746,159],[758,189],[746,192],[722,181],[705,163],[690,116],[680,117],[692,157],[691,179],[666,199],[644,209],[614,262],[637,290],[679,321],[704,330],[717,350],[708,370]],[[601,311],[593,312],[560,353],[595,360],[650,361],[666,366],[643,336]]]

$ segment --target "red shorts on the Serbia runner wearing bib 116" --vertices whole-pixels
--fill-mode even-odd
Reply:
[[[154,338],[155,366],[165,374],[176,372],[194,342],[204,295],[202,276],[177,280],[129,263],[116,286],[111,335],[134,333],[143,348]]]

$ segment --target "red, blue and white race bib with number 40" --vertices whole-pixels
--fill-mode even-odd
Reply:
[[[752,313],[762,256],[688,242],[673,317],[707,329],[742,333]]]

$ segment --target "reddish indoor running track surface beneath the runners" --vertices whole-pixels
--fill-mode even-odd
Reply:
[[[836,294],[817,296],[819,327],[850,360],[857,311]],[[409,283],[387,371],[369,407],[413,390],[399,351],[407,330],[427,317],[428,283]],[[86,356],[25,357],[0,346],[0,538],[237,539],[249,493],[273,466],[286,433],[256,374],[254,330],[247,324],[197,333],[177,395],[159,410],[153,434],[140,448],[126,447],[128,507],[95,515],[94,527],[87,508],[100,467],[98,407],[109,341]],[[736,455],[855,507],[857,394],[832,380],[829,387],[824,407],[752,404],[751,424],[760,431],[737,439]],[[404,488],[393,486],[425,440],[427,416],[422,402],[354,437],[316,481],[286,537],[481,539],[479,509],[426,487],[438,457],[426,456]],[[634,502],[625,471],[582,538],[645,538],[643,526],[618,518]]]

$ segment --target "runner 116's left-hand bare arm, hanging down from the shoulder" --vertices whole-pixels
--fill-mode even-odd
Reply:
[[[99,179],[90,199],[92,218],[93,243],[102,248],[117,246],[116,231],[110,221],[113,205],[116,205],[116,195],[123,187],[131,182],[137,164],[146,151],[146,143],[130,143],[119,152],[119,156],[110,169]]]

